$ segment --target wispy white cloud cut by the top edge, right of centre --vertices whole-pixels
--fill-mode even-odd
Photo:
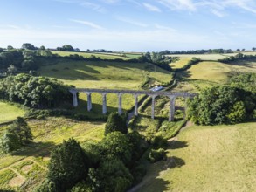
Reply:
[[[158,0],[158,2],[170,10],[197,10],[192,0]]]

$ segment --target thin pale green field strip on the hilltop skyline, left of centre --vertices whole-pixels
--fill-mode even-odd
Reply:
[[[84,58],[89,58],[90,56],[100,57],[102,59],[115,59],[121,58],[122,60],[129,60],[130,58],[121,57],[121,55],[116,53],[91,53],[91,52],[73,52],[73,51],[52,51],[54,54],[58,54],[60,56],[70,56],[73,54],[78,54],[83,56]]]

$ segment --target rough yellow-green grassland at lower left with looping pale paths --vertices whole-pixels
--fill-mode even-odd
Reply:
[[[0,189],[31,191],[45,178],[52,147],[70,137],[84,143],[98,142],[104,136],[103,122],[47,118],[30,120],[28,123],[34,137],[33,143],[12,155],[0,154]],[[0,129],[0,135],[5,128]]]

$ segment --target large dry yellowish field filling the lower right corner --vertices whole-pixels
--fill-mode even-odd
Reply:
[[[256,191],[256,123],[192,126],[150,166],[136,191]]]

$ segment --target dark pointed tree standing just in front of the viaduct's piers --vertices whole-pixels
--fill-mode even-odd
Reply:
[[[126,120],[115,112],[108,115],[107,123],[105,126],[105,134],[109,134],[114,131],[119,131],[122,134],[127,134],[128,132]]]

